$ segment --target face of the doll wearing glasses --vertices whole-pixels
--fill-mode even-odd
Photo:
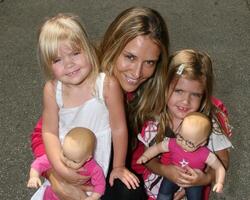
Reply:
[[[207,142],[207,135],[202,130],[183,121],[180,133],[176,134],[176,142],[185,151],[193,152]]]

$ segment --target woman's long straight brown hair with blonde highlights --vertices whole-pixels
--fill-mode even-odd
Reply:
[[[164,107],[164,84],[168,63],[168,30],[162,16],[145,7],[132,7],[123,11],[108,27],[100,46],[100,60],[103,71],[114,74],[116,61],[125,46],[137,36],[148,36],[161,50],[156,70],[135,91],[135,98],[129,102],[130,125],[138,131],[143,122],[155,118]]]

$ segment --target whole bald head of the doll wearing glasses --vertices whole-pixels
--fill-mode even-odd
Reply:
[[[176,141],[185,151],[192,152],[207,143],[210,132],[210,119],[202,113],[192,112],[184,118]]]

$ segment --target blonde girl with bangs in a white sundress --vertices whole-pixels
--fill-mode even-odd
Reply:
[[[112,173],[114,177],[122,178],[127,187],[136,188],[138,178],[133,173],[128,171],[129,176],[123,177],[116,169],[125,166],[128,140],[123,93],[114,77],[99,73],[95,49],[79,18],[58,14],[45,21],[39,31],[38,55],[47,78],[43,94],[42,138],[56,174],[75,185],[89,179],[66,167],[60,159],[67,132],[74,127],[85,127],[96,135],[94,158],[105,176],[110,162],[111,136],[119,138],[114,141],[120,150],[115,152]],[[42,187],[33,199],[42,198],[44,190],[43,198],[46,199],[48,187]],[[87,196],[82,192],[78,199]]]

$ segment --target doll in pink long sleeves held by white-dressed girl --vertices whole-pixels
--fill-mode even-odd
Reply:
[[[105,191],[105,176],[102,168],[93,159],[96,146],[94,133],[87,128],[73,128],[65,136],[62,144],[61,160],[69,168],[78,171],[84,176],[90,177],[90,183],[94,190],[90,196],[86,195],[85,200],[97,200]],[[41,186],[39,176],[51,168],[51,164],[46,155],[34,160],[30,169],[30,178],[27,186],[37,188]],[[43,199],[59,199],[47,186]]]

